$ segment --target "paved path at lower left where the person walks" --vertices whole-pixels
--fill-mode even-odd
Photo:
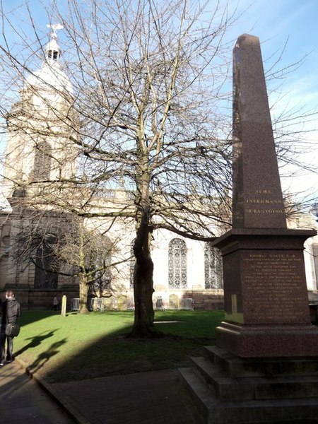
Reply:
[[[74,421],[15,363],[0,368],[1,424],[71,424]]]

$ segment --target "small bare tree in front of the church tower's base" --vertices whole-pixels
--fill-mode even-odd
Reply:
[[[44,284],[57,288],[57,276],[76,278],[81,314],[88,312],[89,289],[98,297],[112,296],[112,271],[130,257],[118,251],[114,235],[110,240],[108,225],[86,223],[86,218],[69,212],[40,211],[30,206],[15,215],[11,217],[16,234],[11,257],[20,272],[30,264],[35,266],[36,287]]]

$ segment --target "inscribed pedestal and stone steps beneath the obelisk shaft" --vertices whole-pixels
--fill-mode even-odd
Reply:
[[[231,230],[225,321],[216,347],[180,375],[208,424],[316,423],[318,329],[310,323],[303,243],[312,230]]]

